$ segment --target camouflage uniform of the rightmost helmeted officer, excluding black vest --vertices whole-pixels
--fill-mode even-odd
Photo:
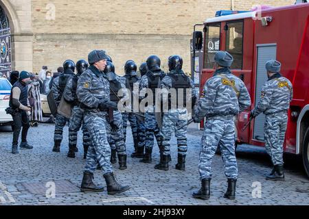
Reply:
[[[170,74],[183,74],[183,70],[176,72],[172,70]],[[173,81],[170,77],[170,74],[163,77],[161,81],[160,88],[165,88],[170,90],[173,88]],[[188,77],[190,81],[190,88],[192,89],[192,97],[197,99],[198,94],[194,88],[194,83],[192,79]],[[183,88],[185,89],[185,88]],[[165,91],[167,91],[165,90]],[[190,97],[191,97],[190,95]],[[168,99],[168,94],[163,92],[163,101]],[[191,103],[191,102],[190,102]],[[191,108],[191,106],[189,106]],[[177,107],[176,109],[169,109],[168,112],[165,112],[163,115],[163,125],[161,129],[161,135],[163,137],[163,155],[170,155],[170,138],[172,137],[172,132],[175,131],[175,136],[177,138],[178,153],[181,155],[186,155],[187,153],[187,118],[188,112],[186,107]]]

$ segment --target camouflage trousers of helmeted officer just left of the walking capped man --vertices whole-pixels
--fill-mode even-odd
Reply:
[[[76,146],[78,131],[80,131],[80,127],[82,127],[82,144],[84,149],[88,149],[90,145],[90,136],[83,120],[84,110],[77,105],[74,106],[69,121],[69,146]]]

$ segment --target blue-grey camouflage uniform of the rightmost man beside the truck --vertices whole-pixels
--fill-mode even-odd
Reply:
[[[279,73],[276,73],[266,81],[262,88],[261,99],[252,110],[252,116],[264,113],[265,147],[271,156],[273,165],[282,165],[283,143],[288,122],[288,108],[293,99],[292,83]]]

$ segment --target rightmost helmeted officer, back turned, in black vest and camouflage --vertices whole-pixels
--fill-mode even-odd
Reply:
[[[178,163],[176,170],[185,170],[185,156],[187,154],[187,118],[188,113],[195,105],[198,94],[190,77],[183,72],[183,59],[179,55],[168,58],[170,73],[163,77],[159,87],[162,90],[163,105],[168,104],[168,111],[163,114],[161,136],[163,138],[160,163],[155,166],[159,170],[168,170],[168,158],[170,156],[170,139],[175,131],[178,146]],[[171,96],[170,90],[174,90],[176,96]],[[188,94],[187,92],[190,92]],[[179,99],[179,95],[183,99]],[[190,96],[190,99],[188,97]],[[174,102],[172,101],[174,100]],[[163,107],[165,108],[165,107]],[[189,110],[187,110],[189,109]]]

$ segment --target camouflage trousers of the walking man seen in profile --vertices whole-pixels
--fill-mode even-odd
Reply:
[[[88,149],[86,166],[84,170],[95,172],[99,162],[103,174],[113,172],[111,165],[111,146],[108,144],[106,133],[106,113],[86,112],[84,123],[89,131],[91,144]]]

